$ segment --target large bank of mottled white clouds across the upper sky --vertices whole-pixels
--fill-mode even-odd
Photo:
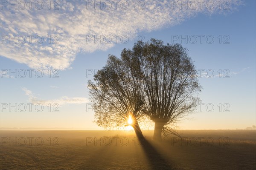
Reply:
[[[41,1],[48,2],[48,1]],[[15,44],[8,40],[1,44],[1,56],[10,58],[19,63],[25,63],[33,69],[67,69],[74,61],[78,52],[93,52],[97,49],[106,50],[115,43],[87,43],[86,35],[110,35],[112,40],[114,35],[127,35],[132,37],[141,31],[153,31],[166,26],[173,26],[184,20],[194,17],[197,14],[213,14],[232,12],[241,4],[241,1],[230,0],[230,10],[219,10],[219,0],[214,1],[214,8],[207,9],[206,3],[202,8],[198,6],[195,10],[174,6],[172,1],[143,1],[144,10],[138,8],[142,4],[137,3],[134,10],[134,1],[128,1],[129,7],[124,10],[121,2],[117,3],[117,8],[112,4],[111,9],[99,10],[93,6],[88,6],[88,1],[58,1],[59,10],[49,10],[44,3],[44,8],[35,8],[34,1],[32,9],[26,7],[24,10],[9,10],[9,6],[3,6],[0,11],[1,35],[15,35],[26,37],[26,43]],[[95,1],[92,1],[95,2]],[[104,3],[105,1],[97,1]],[[111,1],[110,1],[111,2]],[[205,1],[207,2],[207,1]],[[213,2],[213,1],[212,1]],[[181,3],[181,2],[179,2]],[[53,4],[51,6],[53,8]],[[108,7],[108,6],[107,6]],[[36,43],[32,38],[29,43],[28,35],[42,36],[44,42]],[[56,44],[49,43],[49,35],[57,35],[52,40]],[[3,37],[1,37],[3,40]],[[38,37],[38,40],[41,40]],[[119,38],[117,43],[121,43]]]

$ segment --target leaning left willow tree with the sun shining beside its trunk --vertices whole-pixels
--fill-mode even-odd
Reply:
[[[144,92],[140,88],[142,77],[138,70],[136,61],[109,55],[106,66],[94,75],[94,82],[88,82],[99,126],[108,128],[131,125],[137,137],[143,138],[138,119],[143,114]]]

